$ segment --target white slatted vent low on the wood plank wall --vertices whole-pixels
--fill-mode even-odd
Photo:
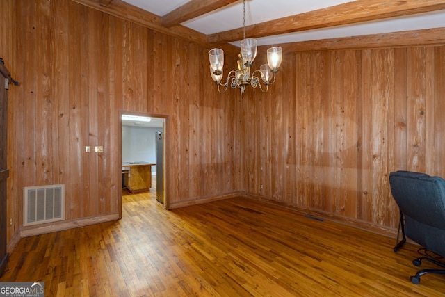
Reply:
[[[23,225],[65,220],[65,184],[23,188]]]

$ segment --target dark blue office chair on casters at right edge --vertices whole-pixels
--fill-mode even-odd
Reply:
[[[445,263],[439,261],[445,256],[445,180],[425,173],[396,171],[389,174],[389,184],[401,211],[399,230],[402,240],[394,252],[409,238],[438,255],[431,257],[427,253],[425,257],[414,259],[414,266],[420,266],[422,260],[427,260],[445,268]],[[411,276],[411,282],[419,284],[421,275],[426,273],[445,274],[445,269],[419,270]]]

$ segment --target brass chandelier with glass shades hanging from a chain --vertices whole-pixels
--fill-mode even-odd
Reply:
[[[282,61],[283,49],[281,47],[270,47],[267,50],[268,63],[261,65],[259,70],[252,72],[251,76],[250,67],[254,65],[253,61],[256,56],[257,40],[245,38],[245,0],[243,0],[243,40],[241,41],[241,53],[238,55],[238,69],[229,72],[225,83],[221,82],[223,79],[224,51],[223,49],[211,49],[209,51],[210,74],[216,86],[218,86],[218,92],[224,93],[230,86],[231,88],[239,88],[242,95],[248,85],[253,88],[259,87],[262,92],[267,92],[268,86],[275,83],[275,74],[278,72],[278,67],[280,67]],[[264,86],[261,86],[261,81]],[[220,87],[223,87],[223,90]]]

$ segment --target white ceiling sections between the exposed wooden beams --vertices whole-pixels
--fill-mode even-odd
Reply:
[[[124,0],[125,2],[163,16],[191,0]],[[247,0],[245,3],[245,25],[267,22],[280,17],[298,15],[311,10],[339,5],[354,0]],[[416,1],[416,0],[410,0]],[[206,35],[223,32],[243,26],[243,1],[236,1],[211,13],[191,19],[181,25]],[[288,42],[341,38],[376,33],[390,33],[445,27],[445,10],[421,13],[407,17],[396,17],[383,21],[364,22],[354,25],[337,26],[329,29],[315,29],[257,38],[258,45],[278,45]],[[248,36],[247,36],[248,37]],[[232,42],[239,46],[239,42]]]

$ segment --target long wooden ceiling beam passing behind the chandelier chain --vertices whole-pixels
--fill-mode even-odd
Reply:
[[[246,26],[245,35],[250,38],[261,38],[444,9],[444,0],[357,0]],[[208,42],[232,42],[242,39],[243,28],[207,35]]]

